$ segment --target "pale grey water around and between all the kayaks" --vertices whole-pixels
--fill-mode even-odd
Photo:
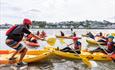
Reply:
[[[70,35],[70,29],[38,29],[39,31],[44,30],[48,36],[55,36],[55,34],[60,35],[60,31],[63,31],[65,34]],[[111,33],[114,32],[114,29],[74,29],[77,36],[81,37],[81,34],[85,34],[88,31],[93,32],[94,34],[103,32],[103,33]],[[11,49],[5,44],[5,32],[6,29],[0,30],[0,49]],[[36,33],[37,29],[32,29],[32,33]],[[82,49],[87,48],[87,43],[85,41],[85,37],[82,37],[80,40],[82,42]],[[47,45],[46,42],[39,41],[40,47],[36,48],[37,50],[43,49],[44,46]],[[72,40],[66,40],[65,42],[70,44]],[[23,42],[22,42],[23,43]],[[23,45],[25,45],[23,43]],[[26,46],[26,45],[25,45]],[[62,45],[59,40],[57,40],[54,47],[64,48],[66,45]],[[33,49],[33,48],[32,48]],[[97,62],[98,67],[90,69],[81,60],[66,60],[66,59],[50,59],[49,61],[39,62],[39,63],[31,63],[29,64],[29,70],[115,70],[115,63],[112,62]],[[1,70],[1,69],[0,69]]]

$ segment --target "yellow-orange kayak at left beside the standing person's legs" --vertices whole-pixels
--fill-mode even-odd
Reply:
[[[0,64],[10,64],[8,59],[11,57],[13,52],[14,51],[12,50],[0,50]],[[23,61],[26,63],[42,61],[45,58],[49,57],[51,53],[52,49],[44,49],[39,51],[30,50],[27,52]],[[17,63],[19,61],[20,55],[17,54],[15,57],[17,58],[15,63]]]

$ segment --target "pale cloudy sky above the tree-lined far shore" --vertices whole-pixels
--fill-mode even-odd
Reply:
[[[115,22],[115,0],[0,0],[0,24],[36,21]]]

